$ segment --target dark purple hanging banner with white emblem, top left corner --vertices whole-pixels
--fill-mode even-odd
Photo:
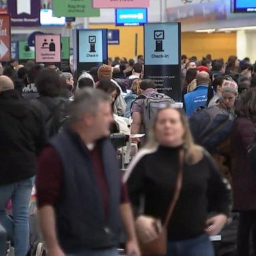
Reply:
[[[8,0],[12,26],[33,27],[40,25],[40,0]]]

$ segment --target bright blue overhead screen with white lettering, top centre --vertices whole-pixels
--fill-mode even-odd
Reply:
[[[147,23],[147,8],[115,9],[117,26],[137,26]]]

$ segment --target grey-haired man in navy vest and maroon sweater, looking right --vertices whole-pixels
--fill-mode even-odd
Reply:
[[[109,96],[75,95],[69,124],[39,158],[37,199],[49,256],[117,256],[121,222],[127,255],[139,256],[133,215],[109,139]]]

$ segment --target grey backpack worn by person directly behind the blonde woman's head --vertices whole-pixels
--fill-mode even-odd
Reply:
[[[143,99],[142,121],[143,127],[146,132],[151,127],[157,110],[161,108],[161,105],[175,103],[175,101],[171,97],[165,95],[164,93],[155,93],[151,96],[143,94],[140,95],[138,99]]]

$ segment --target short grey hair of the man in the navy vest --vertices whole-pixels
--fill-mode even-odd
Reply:
[[[85,88],[75,93],[74,101],[69,105],[69,121],[81,121],[85,113],[96,113],[102,102],[109,101],[109,95],[99,89]]]

